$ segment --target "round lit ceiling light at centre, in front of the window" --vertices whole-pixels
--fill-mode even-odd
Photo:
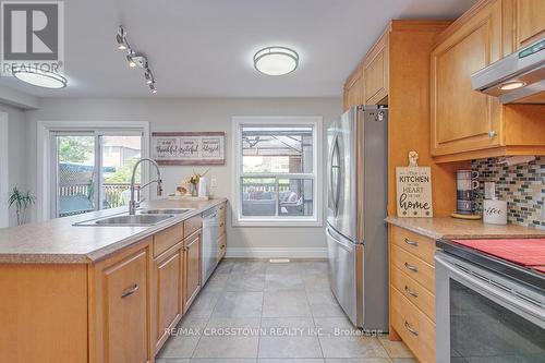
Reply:
[[[293,72],[299,65],[296,51],[286,47],[267,47],[254,56],[254,66],[267,75],[283,75]]]

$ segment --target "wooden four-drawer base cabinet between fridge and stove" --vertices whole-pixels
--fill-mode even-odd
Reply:
[[[390,339],[420,362],[435,362],[435,241],[389,227]]]

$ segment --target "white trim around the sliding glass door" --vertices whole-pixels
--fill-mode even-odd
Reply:
[[[51,218],[51,131],[88,131],[88,130],[142,130],[142,157],[149,156],[148,121],[38,121],[37,122],[37,189],[36,207],[38,221]],[[142,181],[149,181],[149,166],[142,164]],[[147,190],[142,195],[148,198]]]

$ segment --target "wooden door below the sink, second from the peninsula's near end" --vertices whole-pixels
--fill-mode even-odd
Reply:
[[[157,329],[156,343],[160,347],[168,338],[168,331],[183,313],[182,277],[183,255],[182,243],[173,252],[167,252],[155,262],[156,276],[156,308]]]

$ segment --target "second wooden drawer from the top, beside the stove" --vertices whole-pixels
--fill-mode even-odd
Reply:
[[[435,269],[433,266],[397,245],[391,246],[391,262],[393,266],[435,293]]]

